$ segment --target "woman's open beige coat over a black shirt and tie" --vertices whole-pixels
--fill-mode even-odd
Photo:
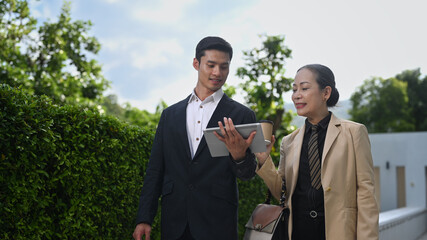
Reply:
[[[305,125],[284,137],[276,170],[269,157],[257,174],[277,199],[282,177],[286,179],[292,219],[292,194]],[[321,180],[325,199],[326,239],[378,239],[378,203],[368,132],[364,125],[331,116],[322,154]],[[289,221],[291,236],[292,221]]]

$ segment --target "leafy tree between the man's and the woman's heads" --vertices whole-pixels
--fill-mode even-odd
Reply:
[[[292,89],[293,79],[285,77],[286,59],[292,51],[285,46],[285,37],[261,35],[261,48],[244,51],[245,66],[237,69],[237,76],[245,80],[240,87],[245,100],[257,119],[274,122],[273,133],[281,139],[295,129],[290,125],[292,113],[285,112],[283,95]],[[277,142],[277,144],[280,144]],[[273,153],[278,156],[279,153]]]

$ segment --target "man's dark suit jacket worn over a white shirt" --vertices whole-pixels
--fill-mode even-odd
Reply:
[[[191,158],[186,109],[189,97],[162,113],[151,150],[136,223],[152,224],[161,196],[162,239],[177,239],[188,224],[196,239],[237,239],[236,177],[255,175],[256,161],[248,150],[236,163],[231,156],[213,158],[203,137]],[[207,127],[230,117],[234,124],[253,123],[249,108],[224,94]]]

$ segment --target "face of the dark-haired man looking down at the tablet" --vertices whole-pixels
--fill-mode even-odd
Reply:
[[[194,58],[193,67],[199,72],[196,89],[204,94],[212,94],[227,80],[230,56],[219,50],[206,50],[200,62]]]

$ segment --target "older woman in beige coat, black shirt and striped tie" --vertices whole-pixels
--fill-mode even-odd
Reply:
[[[297,71],[292,101],[305,124],[284,137],[276,170],[270,151],[258,153],[257,174],[280,198],[286,182],[289,237],[378,239],[378,204],[368,132],[328,107],[338,102],[332,71],[320,64]]]

